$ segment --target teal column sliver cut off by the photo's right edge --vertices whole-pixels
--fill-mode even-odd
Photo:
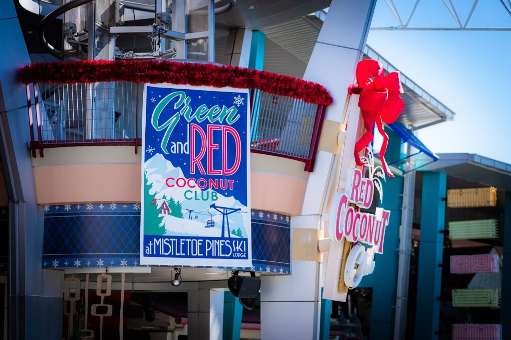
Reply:
[[[502,324],[502,338],[511,339],[511,325],[505,322],[511,320],[511,291],[508,289],[511,286],[511,193],[506,193],[503,229],[504,247],[502,249],[502,307],[500,308],[500,323]],[[505,268],[504,263],[506,264]]]

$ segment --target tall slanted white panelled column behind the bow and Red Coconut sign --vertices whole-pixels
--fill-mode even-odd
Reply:
[[[328,120],[346,122],[346,90],[355,79],[356,65],[362,58],[375,4],[376,0],[332,0],[304,75],[305,80],[323,85],[332,94],[334,102],[327,109]],[[358,116],[359,110],[350,119],[350,125],[355,126],[355,129],[358,126]],[[348,136],[353,141],[349,141]],[[321,229],[324,216],[328,215],[330,209],[327,206],[329,190],[332,187],[334,191],[338,190],[336,184],[339,182],[339,169],[354,166],[354,157],[352,155],[350,158],[349,154],[353,153],[356,138],[356,133],[346,135],[345,145],[351,145],[351,149],[347,147],[342,156],[318,151],[301,216],[291,218],[291,236],[297,228]],[[341,159],[342,163],[339,164]],[[340,180],[342,182],[339,182],[339,187],[344,186],[345,179]],[[334,257],[340,260],[339,253],[342,253],[342,249],[337,249]],[[318,338],[321,268],[322,265],[314,261],[291,260],[291,276],[262,277],[262,338]],[[340,266],[337,272],[339,270]],[[331,294],[330,299],[342,299],[341,295],[335,294],[337,280],[332,282],[332,289],[334,286],[335,292],[332,292],[334,294]]]

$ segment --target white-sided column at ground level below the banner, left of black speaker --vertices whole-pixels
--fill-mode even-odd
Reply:
[[[188,291],[188,338],[222,339],[223,290]]]

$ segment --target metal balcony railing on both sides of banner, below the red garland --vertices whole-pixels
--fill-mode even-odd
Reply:
[[[133,145],[137,152],[142,87],[125,81],[27,85],[32,155],[85,145]],[[259,89],[251,90],[251,103],[252,152],[303,161],[312,171],[326,106]]]

